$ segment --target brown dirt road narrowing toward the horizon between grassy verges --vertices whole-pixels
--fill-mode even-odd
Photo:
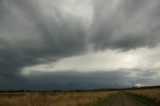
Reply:
[[[118,93],[111,102],[110,106],[144,106],[132,97],[129,97],[126,93]]]

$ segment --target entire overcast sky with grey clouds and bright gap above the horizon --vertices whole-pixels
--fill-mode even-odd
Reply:
[[[0,0],[0,89],[160,85],[159,0]]]

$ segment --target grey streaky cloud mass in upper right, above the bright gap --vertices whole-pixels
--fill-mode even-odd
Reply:
[[[94,4],[94,48],[129,50],[159,43],[159,1],[95,0]]]

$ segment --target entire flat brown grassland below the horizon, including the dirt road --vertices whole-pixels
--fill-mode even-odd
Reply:
[[[160,88],[0,93],[0,106],[160,106]]]

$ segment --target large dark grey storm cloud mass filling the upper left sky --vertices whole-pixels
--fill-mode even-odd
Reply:
[[[48,19],[40,2],[35,3],[1,0],[1,76],[12,77],[22,67],[79,54],[85,49],[85,31],[78,19],[71,15],[65,18],[57,9]]]

